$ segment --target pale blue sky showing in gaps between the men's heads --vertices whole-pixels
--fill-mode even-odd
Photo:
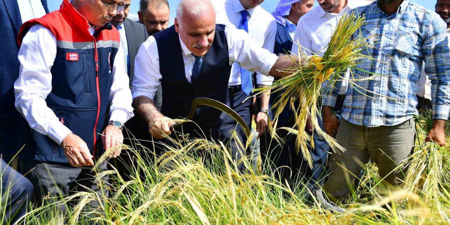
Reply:
[[[98,0],[100,1],[100,0]],[[170,24],[173,24],[173,19],[175,18],[175,9],[177,4],[180,2],[180,0],[168,0],[169,6],[170,6]],[[211,0],[216,1],[216,0]],[[362,0],[361,0],[362,1]],[[413,2],[416,2],[419,5],[424,6],[427,9],[434,11],[434,5],[436,4],[435,0],[411,0]],[[62,0],[47,0],[49,10],[54,11],[59,9],[59,5],[61,5]],[[278,4],[278,0],[265,0],[261,6],[268,12],[272,12],[275,7]],[[314,6],[318,6],[319,4],[317,1],[314,1]],[[138,17],[138,11],[139,11],[139,0],[131,0],[131,9],[129,12],[128,17]]]

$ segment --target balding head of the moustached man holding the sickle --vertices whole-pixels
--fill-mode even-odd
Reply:
[[[211,47],[216,29],[216,14],[209,0],[182,0],[176,8],[175,30],[196,56]]]

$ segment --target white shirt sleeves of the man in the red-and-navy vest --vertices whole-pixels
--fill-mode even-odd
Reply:
[[[93,34],[95,27],[90,27]],[[19,50],[19,78],[14,83],[15,106],[31,128],[61,144],[72,131],[59,122],[47,106],[52,91],[52,69],[56,57],[56,37],[41,25],[34,25],[25,35]],[[128,76],[124,71],[123,52],[117,52],[113,83],[109,94],[110,120],[125,123],[133,116]],[[81,122],[81,121],[80,121]]]

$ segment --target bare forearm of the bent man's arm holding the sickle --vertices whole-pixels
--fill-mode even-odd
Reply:
[[[156,118],[164,117],[156,108],[153,100],[146,96],[139,96],[133,99],[133,107],[138,116],[148,124],[152,123]]]

